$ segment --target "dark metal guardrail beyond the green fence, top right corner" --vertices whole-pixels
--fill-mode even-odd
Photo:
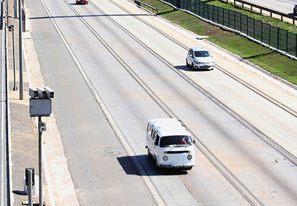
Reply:
[[[239,3],[241,3],[241,7],[244,7],[244,5],[249,5],[249,6],[251,6],[252,11],[253,11],[253,7],[255,7],[260,10],[260,14],[263,14],[263,11],[269,12],[270,17],[273,17],[272,14],[279,15],[281,17],[282,21],[283,21],[283,17],[286,17],[286,18],[289,18],[292,20],[292,24],[295,24],[295,22],[297,21],[297,16],[292,16],[290,14],[286,14],[281,11],[277,11],[277,10],[270,9],[270,8],[267,8],[264,6],[260,6],[260,5],[254,4],[254,3],[250,3],[248,1],[244,1],[244,0],[223,0],[223,1],[226,1],[227,3],[233,2],[234,5],[238,5],[237,2],[239,2]],[[292,8],[292,10],[293,10],[293,8]]]

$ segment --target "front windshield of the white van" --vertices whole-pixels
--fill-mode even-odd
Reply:
[[[189,136],[167,136],[160,140],[160,147],[181,147],[192,145],[192,140]]]

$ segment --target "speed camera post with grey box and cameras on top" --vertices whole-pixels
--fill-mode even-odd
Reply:
[[[39,206],[43,206],[43,142],[42,132],[46,131],[46,124],[41,117],[50,116],[52,113],[52,99],[54,91],[49,87],[29,88],[30,95],[30,117],[38,117],[38,172],[39,172]]]

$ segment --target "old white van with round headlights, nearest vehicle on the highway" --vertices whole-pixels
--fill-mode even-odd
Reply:
[[[177,119],[149,120],[146,142],[148,157],[156,160],[157,167],[190,170],[195,166],[194,141]]]

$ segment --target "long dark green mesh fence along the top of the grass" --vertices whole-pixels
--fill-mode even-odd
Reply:
[[[206,4],[200,0],[165,0],[225,27],[242,32],[264,44],[297,57],[297,34],[271,26],[236,11]]]

